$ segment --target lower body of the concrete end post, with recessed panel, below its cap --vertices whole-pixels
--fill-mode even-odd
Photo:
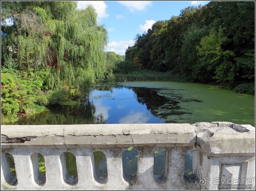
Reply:
[[[226,177],[225,167],[235,169],[233,172],[230,170],[232,178]],[[209,157],[205,152],[197,149],[193,152],[192,172],[198,177],[201,190],[219,190],[220,186],[238,184],[238,182],[240,186],[250,186],[241,188],[242,190],[255,190],[254,156]]]

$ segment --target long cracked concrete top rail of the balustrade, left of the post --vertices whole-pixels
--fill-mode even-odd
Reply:
[[[13,130],[15,129],[15,131]],[[117,146],[193,146],[190,124],[14,125],[1,127],[4,148],[100,148]],[[12,146],[14,146],[12,145]]]

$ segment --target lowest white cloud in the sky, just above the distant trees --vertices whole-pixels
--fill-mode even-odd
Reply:
[[[116,54],[124,55],[128,46],[132,46],[133,44],[133,40],[119,42],[112,41],[111,43],[108,43],[107,51],[112,51]]]

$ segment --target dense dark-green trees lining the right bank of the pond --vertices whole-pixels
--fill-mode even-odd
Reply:
[[[137,35],[126,60],[187,81],[254,93],[255,2],[213,1],[182,9]]]

